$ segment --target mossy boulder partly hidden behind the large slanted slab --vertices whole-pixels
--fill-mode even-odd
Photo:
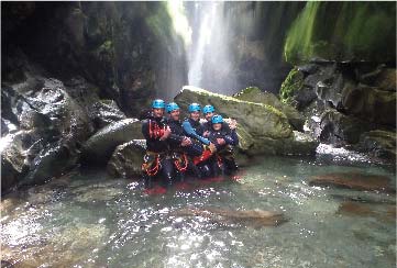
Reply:
[[[289,124],[297,131],[304,130],[305,118],[291,105],[280,102],[274,93],[263,92],[256,87],[250,87],[233,94],[239,100],[263,103],[282,111],[288,119]]]

